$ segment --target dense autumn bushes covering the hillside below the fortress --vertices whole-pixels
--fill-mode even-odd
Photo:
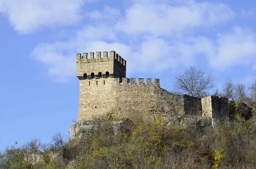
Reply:
[[[256,123],[236,114],[204,134],[189,126],[166,126],[163,117],[126,120],[122,132],[100,120],[96,133],[65,142],[60,134],[48,145],[7,148],[0,169],[246,169],[256,166]],[[30,145],[30,146],[28,146]],[[36,149],[36,151],[35,151]],[[26,158],[34,151],[34,158]],[[35,161],[35,155],[38,159]],[[33,162],[34,160],[34,162]]]

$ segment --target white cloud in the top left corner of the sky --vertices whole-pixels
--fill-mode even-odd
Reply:
[[[0,12],[9,17],[16,31],[25,34],[77,23],[86,1],[92,0],[0,0]]]

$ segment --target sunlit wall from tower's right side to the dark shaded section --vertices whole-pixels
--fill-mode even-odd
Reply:
[[[183,95],[175,95],[160,88],[159,79],[119,78],[115,84],[113,117],[129,115],[166,115],[183,113]],[[120,83],[121,82],[121,83]]]

